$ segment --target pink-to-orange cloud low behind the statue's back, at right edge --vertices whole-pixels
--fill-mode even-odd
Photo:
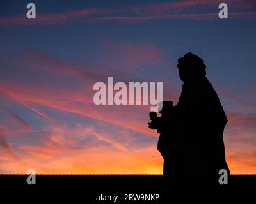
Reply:
[[[227,113],[225,149],[231,173],[256,173],[256,115]]]

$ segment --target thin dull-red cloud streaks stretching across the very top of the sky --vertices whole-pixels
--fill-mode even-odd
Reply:
[[[63,13],[37,13],[35,20],[28,20],[25,15],[1,17],[0,25],[58,25],[73,23],[92,23],[116,21],[122,23],[140,23],[160,19],[218,19],[218,4],[221,1],[190,0],[168,3],[138,4],[109,8],[84,8]],[[232,10],[230,18],[256,17],[253,10],[255,1],[225,1]]]

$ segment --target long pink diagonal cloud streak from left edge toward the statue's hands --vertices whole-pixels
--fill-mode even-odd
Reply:
[[[102,120],[104,122],[109,122],[111,124],[116,124],[117,126],[122,126],[125,128],[131,128],[134,131],[139,131],[147,134],[154,134],[150,129],[147,128],[147,120],[148,120],[148,110],[145,108],[140,108],[140,106],[132,107],[132,106],[96,106],[93,103],[93,94],[90,96],[85,96],[81,94],[81,92],[72,92],[65,91],[61,89],[56,90],[58,95],[54,94],[54,92],[47,92],[47,89],[33,88],[31,91],[31,87],[29,87],[29,91],[26,91],[26,87],[22,87],[22,92],[19,92],[21,88],[20,85],[11,86],[5,85],[3,86],[6,94],[12,96],[17,102],[25,105],[29,109],[38,113],[45,119],[55,122],[51,116],[47,113],[42,113],[42,111],[38,111],[35,108],[31,108],[31,105],[27,105],[28,103],[39,104],[43,106],[48,106],[50,108],[56,108],[57,110],[62,110],[65,112],[76,113],[79,115],[83,115],[85,117],[90,117],[92,119]],[[18,88],[19,87],[19,88]],[[7,91],[8,90],[8,91]],[[62,92],[62,93],[61,93]],[[70,98],[74,100],[70,100]],[[60,101],[65,102],[60,102]],[[76,103],[76,101],[81,101],[81,103]],[[35,106],[33,106],[35,107]],[[111,112],[111,115],[109,115]],[[143,113],[145,113],[143,117]],[[109,115],[106,117],[106,115]],[[116,120],[118,118],[121,119],[121,115],[124,115],[125,120]],[[140,121],[142,118],[145,118],[145,122]]]

